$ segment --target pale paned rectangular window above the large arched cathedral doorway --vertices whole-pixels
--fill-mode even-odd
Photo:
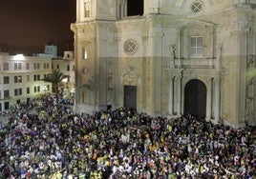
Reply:
[[[190,57],[203,58],[203,37],[202,36],[191,36]]]

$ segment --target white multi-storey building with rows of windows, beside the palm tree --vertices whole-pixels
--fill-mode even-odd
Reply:
[[[42,80],[51,71],[52,58],[0,54],[0,111],[52,92],[52,84]]]

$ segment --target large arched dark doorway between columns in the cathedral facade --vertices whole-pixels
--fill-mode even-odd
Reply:
[[[206,116],[206,87],[200,80],[190,80],[184,89],[184,114]]]

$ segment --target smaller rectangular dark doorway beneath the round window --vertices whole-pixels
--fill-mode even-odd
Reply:
[[[137,87],[124,86],[124,107],[129,109],[137,109]]]

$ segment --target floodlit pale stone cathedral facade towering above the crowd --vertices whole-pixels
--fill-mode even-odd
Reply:
[[[75,111],[255,124],[255,0],[76,0]]]

